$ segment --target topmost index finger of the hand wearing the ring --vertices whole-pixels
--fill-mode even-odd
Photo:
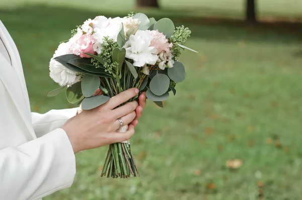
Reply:
[[[106,104],[109,109],[114,109],[122,103],[128,101],[130,98],[136,96],[136,94],[138,94],[138,91],[139,90],[137,88],[130,88],[122,91],[121,93],[111,97]]]

